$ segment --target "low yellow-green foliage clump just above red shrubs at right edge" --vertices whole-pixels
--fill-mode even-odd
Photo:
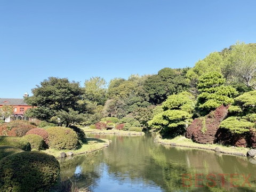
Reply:
[[[251,123],[246,119],[239,119],[238,117],[228,117],[221,122],[220,128],[228,129],[232,133],[242,134],[250,131],[251,128],[255,127],[255,123]]]

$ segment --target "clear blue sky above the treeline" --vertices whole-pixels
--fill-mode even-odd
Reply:
[[[193,67],[236,41],[256,43],[254,0],[0,0],[0,98],[44,79],[110,81]]]

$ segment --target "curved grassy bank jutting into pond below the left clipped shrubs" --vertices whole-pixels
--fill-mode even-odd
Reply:
[[[108,139],[97,139],[97,138],[86,138],[86,139],[88,143],[82,145],[82,147],[77,150],[46,149],[43,151],[47,154],[53,155],[56,158],[59,158],[61,152],[67,153],[68,151],[72,151],[74,155],[92,153],[93,151],[108,147],[109,143],[111,142]]]

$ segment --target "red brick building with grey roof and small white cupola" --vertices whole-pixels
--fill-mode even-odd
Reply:
[[[28,97],[28,93],[25,93],[23,97]],[[13,115],[7,117],[5,122],[17,119],[29,120],[29,118],[25,116],[25,111],[31,108],[31,106],[27,105],[24,99],[0,98],[0,108],[4,105],[12,106],[13,108]],[[0,118],[2,117],[0,116]]]

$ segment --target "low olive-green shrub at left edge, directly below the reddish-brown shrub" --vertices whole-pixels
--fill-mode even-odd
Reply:
[[[0,146],[1,145],[17,147],[25,151],[31,150],[30,143],[24,138],[19,137],[0,136]]]

